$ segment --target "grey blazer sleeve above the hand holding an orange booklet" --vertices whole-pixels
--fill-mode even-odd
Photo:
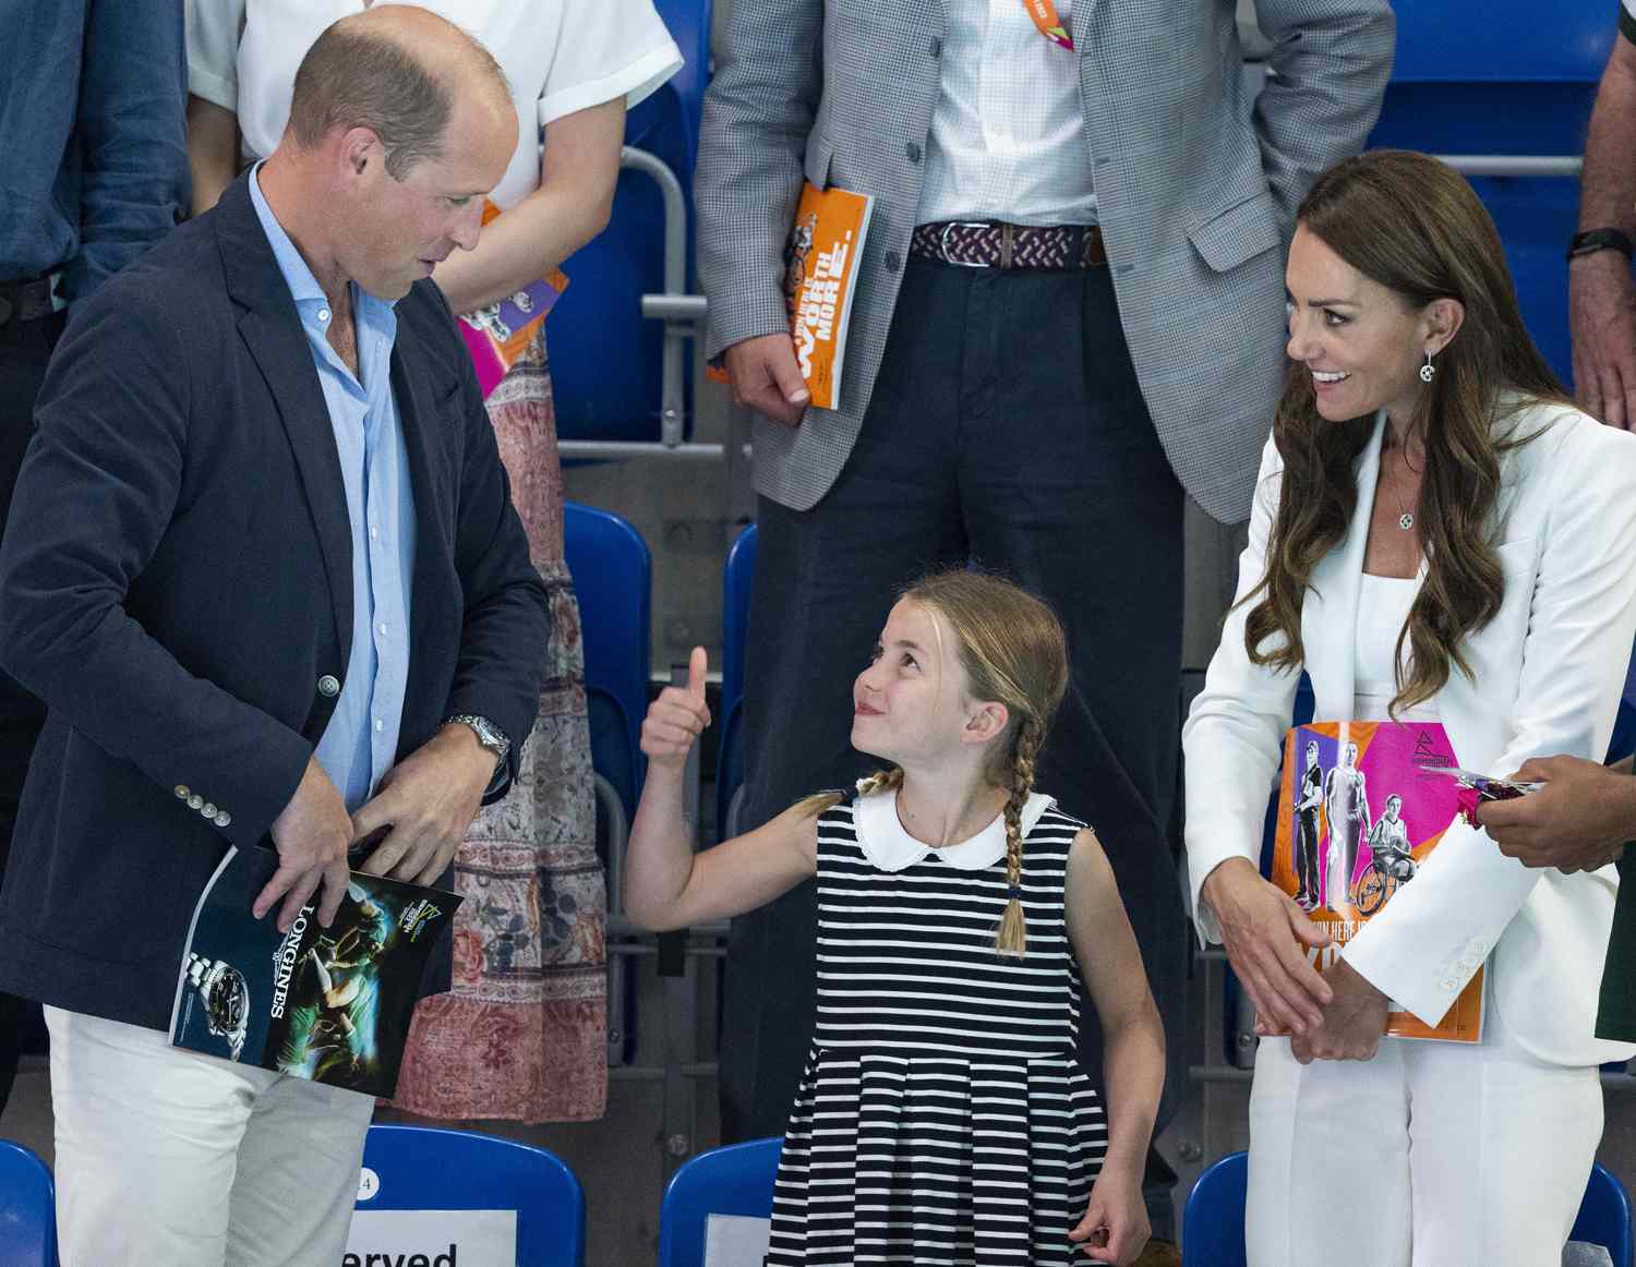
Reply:
[[[705,95],[694,203],[705,355],[789,329],[784,242],[823,92],[823,0],[736,0]]]

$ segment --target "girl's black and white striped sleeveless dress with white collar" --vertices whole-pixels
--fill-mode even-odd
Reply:
[[[818,1014],[767,1264],[1075,1260],[1108,1148],[1073,1054],[1063,878],[1083,824],[1036,795],[1022,827],[1018,960],[995,951],[1003,822],[929,850],[892,791],[820,817]]]

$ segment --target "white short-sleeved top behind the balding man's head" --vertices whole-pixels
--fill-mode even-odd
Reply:
[[[396,3],[398,0],[376,0]],[[623,95],[636,105],[682,65],[653,0],[419,0],[479,41],[510,80],[517,152],[491,198],[540,188],[540,129]],[[188,92],[239,116],[249,159],[290,119],[296,67],[326,26],[363,0],[187,0]]]

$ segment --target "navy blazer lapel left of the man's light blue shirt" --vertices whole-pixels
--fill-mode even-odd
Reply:
[[[347,489],[340,477],[340,456],[335,451],[324,389],[319,386],[290,286],[250,203],[245,178],[222,195],[216,217],[227,293],[249,309],[239,319],[239,335],[273,394],[278,419],[301,471],[308,510],[324,556],[335,638],[345,664],[352,654],[352,525],[347,520]]]

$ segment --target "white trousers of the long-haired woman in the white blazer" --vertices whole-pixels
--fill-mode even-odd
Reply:
[[[1384,1038],[1373,1061],[1263,1040],[1250,1267],[1557,1267],[1602,1138],[1595,1066],[1543,1064],[1489,1007],[1482,1043]]]

